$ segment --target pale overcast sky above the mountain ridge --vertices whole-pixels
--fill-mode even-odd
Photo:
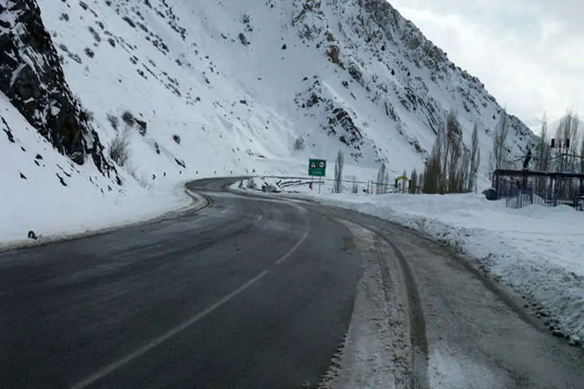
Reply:
[[[527,125],[584,116],[584,0],[389,0]]]

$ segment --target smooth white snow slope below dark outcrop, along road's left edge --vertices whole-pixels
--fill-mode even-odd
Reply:
[[[93,163],[78,166],[55,152],[2,93],[0,107],[0,249],[6,242],[22,243],[29,230],[46,241],[154,218],[190,204],[171,180],[145,189],[126,175],[119,187]],[[47,233],[51,236],[41,236]]]

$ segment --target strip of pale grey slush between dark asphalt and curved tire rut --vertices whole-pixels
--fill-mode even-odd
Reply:
[[[408,389],[411,378],[408,302],[397,261],[392,293],[386,299],[378,258],[391,253],[384,241],[363,227],[333,219],[349,229],[361,254],[363,275],[357,285],[344,341],[317,389]]]

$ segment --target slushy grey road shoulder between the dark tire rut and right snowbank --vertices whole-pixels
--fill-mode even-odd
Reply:
[[[472,258],[385,220],[307,207],[372,232],[374,239],[357,248],[365,260],[376,257],[388,305],[394,300],[388,293],[405,295],[411,348],[405,370],[413,375],[398,388],[584,389],[584,349],[552,336],[521,296],[474,268]],[[394,321],[388,318],[390,327]],[[341,387],[370,382],[355,381]]]

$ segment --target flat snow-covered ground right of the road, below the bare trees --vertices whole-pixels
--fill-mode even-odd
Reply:
[[[317,184],[308,187],[310,178],[255,179],[258,188],[292,181],[296,184],[284,188],[283,195],[378,216],[449,243],[526,297],[538,316],[549,316],[550,325],[584,339],[583,212],[568,206],[509,209],[505,201],[488,201],[481,194],[374,195],[363,193],[363,185],[353,194],[350,182],[345,193],[332,194],[332,181],[325,181],[318,194]],[[233,188],[241,190],[239,184]]]

